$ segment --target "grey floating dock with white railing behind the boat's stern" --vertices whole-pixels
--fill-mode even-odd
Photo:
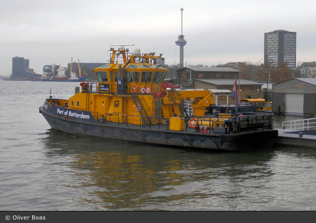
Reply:
[[[282,122],[278,130],[276,145],[301,146],[316,149],[316,119]]]

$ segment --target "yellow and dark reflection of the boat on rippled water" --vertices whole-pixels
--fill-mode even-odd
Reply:
[[[66,182],[69,187],[86,188],[77,201],[105,209],[157,210],[166,208],[158,204],[185,205],[196,199],[234,200],[244,196],[244,181],[273,176],[267,164],[273,150],[195,152],[56,132],[49,132],[43,143],[47,157],[70,158],[56,165],[70,167],[68,174],[79,180]]]

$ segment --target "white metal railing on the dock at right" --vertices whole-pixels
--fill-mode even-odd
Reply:
[[[301,119],[282,122],[282,133],[316,130],[316,119]]]

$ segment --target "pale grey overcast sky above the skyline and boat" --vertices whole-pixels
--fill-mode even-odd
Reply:
[[[296,32],[296,62],[316,61],[316,2],[293,0],[0,0],[0,75],[12,58],[43,66],[106,62],[111,44],[134,44],[178,64],[183,8],[184,63],[263,62],[264,33]]]

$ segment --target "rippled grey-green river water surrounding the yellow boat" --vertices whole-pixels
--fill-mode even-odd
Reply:
[[[39,107],[79,82],[0,80],[0,210],[316,210],[316,151],[196,151],[74,137]],[[301,119],[275,117],[281,121]]]

